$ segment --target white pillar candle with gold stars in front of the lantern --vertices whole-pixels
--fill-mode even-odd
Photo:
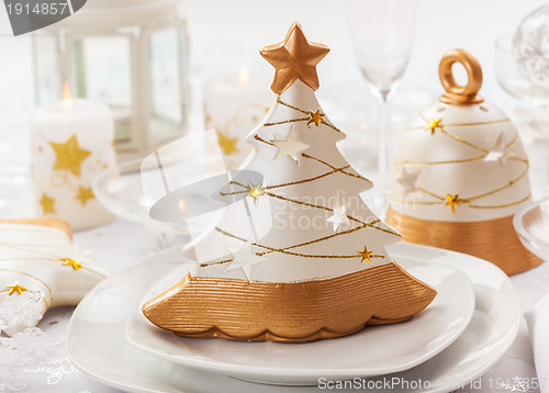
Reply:
[[[115,165],[111,110],[101,103],[65,99],[31,116],[36,213],[67,221],[72,229],[104,224],[112,215],[96,199],[94,177]]]

